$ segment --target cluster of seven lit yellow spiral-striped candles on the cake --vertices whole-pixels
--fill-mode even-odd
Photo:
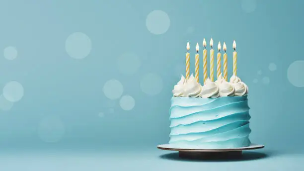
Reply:
[[[207,50],[206,50],[206,40],[204,38],[203,41],[203,46],[204,46],[204,51],[203,51],[203,71],[204,71],[204,84],[206,83],[207,80]],[[214,81],[214,49],[213,49],[213,39],[211,38],[210,40],[210,80],[213,82]],[[237,59],[237,52],[236,52],[236,43],[235,40],[233,41],[232,48],[234,49],[233,52],[233,75],[236,76],[236,59]],[[218,56],[217,56],[217,78],[219,78],[222,73],[221,73],[221,42],[218,44]],[[187,43],[187,53],[186,53],[186,79],[189,79],[190,77],[190,45],[189,42]],[[227,47],[226,43],[224,42],[223,44],[223,50],[224,50],[224,79],[227,81]],[[195,79],[197,82],[199,82],[199,45],[198,43],[196,44],[196,55],[195,55]]]

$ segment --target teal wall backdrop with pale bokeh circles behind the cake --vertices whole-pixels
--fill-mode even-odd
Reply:
[[[171,90],[185,73],[186,43],[193,72],[196,43],[202,57],[203,38],[212,37],[215,47],[227,43],[229,77],[236,40],[252,142],[301,147],[303,6],[303,0],[2,0],[0,146],[167,143]]]

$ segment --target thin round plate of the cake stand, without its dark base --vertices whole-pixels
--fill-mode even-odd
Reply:
[[[257,150],[265,147],[264,145],[261,144],[251,144],[250,146],[247,147],[232,148],[232,149],[182,149],[182,148],[177,149],[177,148],[160,147],[162,145],[166,145],[166,144],[158,145],[157,149],[179,151],[179,152],[233,152],[233,151]]]

